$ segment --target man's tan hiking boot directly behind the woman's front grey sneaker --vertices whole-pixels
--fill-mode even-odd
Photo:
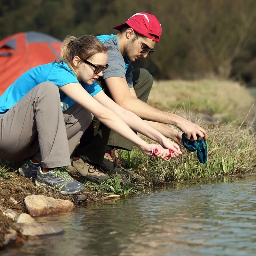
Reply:
[[[72,166],[76,168],[76,171],[85,179],[93,181],[104,181],[109,178],[108,174],[102,172],[100,168],[97,168],[93,164],[85,162],[82,158],[73,158]]]

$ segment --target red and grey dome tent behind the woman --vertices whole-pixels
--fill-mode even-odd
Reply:
[[[22,32],[0,41],[0,95],[30,68],[60,59],[61,41],[40,32]]]

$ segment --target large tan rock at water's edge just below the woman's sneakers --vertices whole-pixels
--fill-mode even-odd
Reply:
[[[75,209],[75,204],[69,200],[54,199],[43,195],[26,196],[24,203],[31,216],[70,212]]]

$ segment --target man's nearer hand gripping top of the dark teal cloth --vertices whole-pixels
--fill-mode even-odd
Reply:
[[[207,132],[197,124],[194,124],[188,120],[182,120],[177,127],[186,134],[188,140],[202,140],[205,137],[207,140]],[[199,135],[199,138],[196,137],[196,134]]]

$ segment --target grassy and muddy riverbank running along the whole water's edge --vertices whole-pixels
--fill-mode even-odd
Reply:
[[[236,83],[232,84],[231,82],[228,82],[227,84],[219,83],[218,81],[211,82],[212,84],[210,82],[206,83],[205,81],[198,82],[198,84],[196,84],[196,82],[176,82],[177,84],[175,86],[180,88],[185,95],[184,96],[181,93],[183,97],[188,97],[186,93],[189,91],[196,92],[194,96],[192,94],[189,96],[191,97],[190,103],[196,97],[196,100],[193,101],[196,102],[196,104],[199,104],[200,102],[204,102],[205,104],[207,103],[206,105],[201,105],[200,108],[198,108],[201,110],[200,113],[192,111],[192,108],[183,108],[180,109],[179,113],[177,112],[181,116],[185,114],[186,118],[192,120],[207,130],[209,137],[207,141],[207,163],[205,165],[200,164],[196,153],[188,153],[184,148],[182,148],[183,154],[179,159],[168,162],[162,161],[156,157],[148,157],[135,147],[131,152],[121,151],[120,156],[125,160],[124,168],[133,172],[133,176],[136,179],[136,182],[134,183],[130,182],[121,184],[117,178],[109,179],[101,184],[88,181],[84,182],[84,180],[81,179],[76,172],[70,173],[75,179],[84,183],[84,189],[79,194],[86,196],[87,202],[94,201],[95,199],[97,200],[108,195],[127,195],[129,193],[148,191],[150,188],[152,188],[152,186],[164,184],[165,182],[169,181],[180,182],[182,180],[211,177],[214,182],[214,179],[217,179],[223,175],[236,175],[255,172],[256,137],[255,130],[253,129],[252,125],[250,125],[253,121],[253,113],[250,112],[252,109],[250,106],[253,104],[253,98],[247,94],[246,89],[242,86],[239,87],[239,85]],[[156,98],[151,96],[149,102],[151,105],[157,106],[158,108],[168,108],[165,110],[172,111],[170,106],[166,107],[164,105],[169,101],[165,99],[171,99],[170,101],[174,100],[171,97],[172,95],[177,96],[178,91],[174,90],[174,82],[164,83],[165,84],[162,85],[154,84],[152,88],[153,93],[151,95],[155,95]],[[213,84],[214,90],[212,91],[211,86],[213,86]],[[162,92],[165,93],[165,98],[163,98],[162,94],[161,97],[157,96],[156,86],[159,86],[158,91],[160,94]],[[208,89],[206,90],[206,88]],[[231,102],[233,107],[228,108],[227,97],[225,97],[225,95],[227,96],[231,94],[230,91],[233,93],[234,89],[237,89],[239,93],[234,93],[234,95],[232,94],[234,96]],[[219,94],[216,96],[214,91],[222,91],[224,96],[219,99]],[[199,99],[200,95],[202,97],[201,100]],[[158,103],[152,102],[152,97],[155,100],[159,99],[157,101]],[[215,107],[209,110],[208,107],[213,105],[211,102],[213,102],[214,99],[218,101],[215,104]],[[210,102],[210,105],[208,101]],[[181,99],[179,102],[181,102]],[[184,102],[183,106],[185,106],[185,104],[188,103]],[[244,116],[237,116],[236,119],[232,119],[233,122],[231,123],[223,123],[224,119],[214,118],[214,115],[215,117],[216,115],[220,115],[220,113],[216,110],[216,106],[219,106],[219,109],[222,109],[222,111],[225,109],[226,113],[228,113],[227,115],[229,116],[234,115],[233,108],[235,108],[235,110],[236,108],[239,108],[241,111],[239,113],[243,113]],[[208,112],[203,111],[202,109],[208,109]],[[215,112],[213,112],[213,110]],[[211,117],[210,120],[208,119],[208,122],[205,121],[205,117],[207,116]],[[0,216],[2,225],[0,229],[0,247],[1,243],[4,241],[6,231],[12,226],[12,221],[6,219],[7,217],[3,216],[1,211],[11,208],[18,213],[26,212],[24,206],[24,199],[26,196],[44,195],[53,197],[55,199],[70,200],[76,206],[81,205],[81,201],[78,201],[77,195],[63,196],[51,188],[36,187],[34,180],[29,180],[16,174],[19,165],[20,163],[9,163],[0,160]]]

